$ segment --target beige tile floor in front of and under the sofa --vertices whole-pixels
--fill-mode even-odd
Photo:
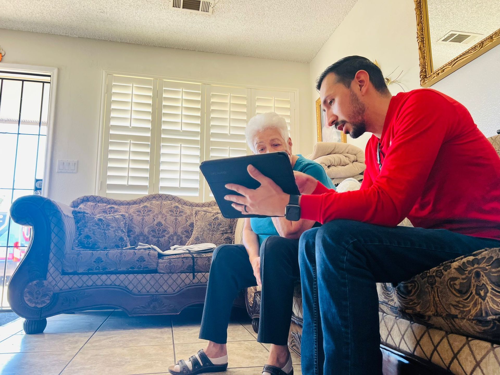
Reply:
[[[256,341],[250,320],[231,318],[227,375],[260,374],[268,345]],[[23,319],[0,327],[1,375],[167,375],[167,367],[205,346],[198,338],[201,310],[173,316],[129,317],[120,310],[61,314],[43,333],[28,335]],[[292,353],[294,373],[300,357]]]

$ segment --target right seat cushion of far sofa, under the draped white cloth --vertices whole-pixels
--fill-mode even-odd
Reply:
[[[158,273],[192,273],[194,258],[194,272],[209,272],[212,262],[212,251],[193,252],[191,254],[175,254],[162,256],[158,259]]]

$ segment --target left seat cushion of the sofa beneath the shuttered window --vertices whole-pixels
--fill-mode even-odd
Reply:
[[[62,273],[151,273],[157,265],[152,250],[73,250],[64,253]]]

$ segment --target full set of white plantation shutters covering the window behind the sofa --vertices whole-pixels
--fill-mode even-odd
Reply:
[[[99,194],[213,199],[199,164],[246,155],[245,128],[255,114],[275,111],[292,132],[293,95],[107,74]]]

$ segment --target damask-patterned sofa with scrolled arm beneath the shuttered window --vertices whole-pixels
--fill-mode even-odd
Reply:
[[[112,306],[129,315],[176,314],[203,303],[211,252],[158,258],[154,250],[75,249],[73,209],[94,217],[124,213],[131,246],[140,241],[165,250],[186,244],[196,225],[208,234],[220,228],[219,222],[193,219],[198,212],[211,212],[208,221],[220,221],[215,201],[194,203],[166,194],[135,200],[87,195],[67,206],[38,195],[18,198],[11,217],[32,226],[34,235],[7,298],[12,310],[27,319],[26,333],[43,331],[48,316],[90,307]],[[230,221],[231,232],[224,236],[211,234],[219,243],[232,243],[235,224]]]

